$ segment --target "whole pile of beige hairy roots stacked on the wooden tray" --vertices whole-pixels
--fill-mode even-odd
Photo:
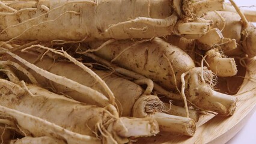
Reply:
[[[203,113],[233,115],[217,77],[246,67],[256,31],[231,4],[0,1],[1,142],[193,136]]]

